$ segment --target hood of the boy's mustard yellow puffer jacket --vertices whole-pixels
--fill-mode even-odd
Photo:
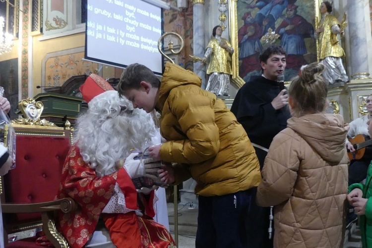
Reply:
[[[159,88],[159,99],[156,103],[157,109],[163,109],[164,103],[169,96],[169,92],[181,85],[201,86],[202,80],[195,73],[185,70],[179,65],[167,62],[165,65],[161,87]]]

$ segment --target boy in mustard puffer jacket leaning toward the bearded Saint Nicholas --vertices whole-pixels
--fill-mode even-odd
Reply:
[[[175,64],[166,64],[161,82],[146,66],[132,64],[121,76],[119,94],[135,108],[161,113],[167,141],[149,154],[169,164],[158,171],[162,181],[197,182],[195,247],[246,248],[251,189],[261,181],[258,159],[234,114],[200,86],[200,77]]]

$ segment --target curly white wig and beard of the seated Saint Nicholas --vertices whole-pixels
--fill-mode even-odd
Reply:
[[[130,149],[143,150],[152,145],[155,125],[142,109],[120,98],[118,92],[107,91],[89,104],[89,110],[76,120],[74,142],[84,162],[96,169],[98,176],[110,174],[115,162],[125,158]]]

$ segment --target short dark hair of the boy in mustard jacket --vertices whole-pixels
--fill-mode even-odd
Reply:
[[[159,78],[148,67],[137,63],[128,65],[120,77],[119,95],[124,95],[124,91],[127,90],[138,90],[142,81],[151,84],[154,88],[159,88],[160,86]]]

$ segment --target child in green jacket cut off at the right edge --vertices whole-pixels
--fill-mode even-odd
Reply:
[[[367,122],[368,132],[372,138],[372,121]],[[372,162],[368,167],[366,184],[356,183],[349,186],[347,199],[360,216],[363,248],[372,248]]]

